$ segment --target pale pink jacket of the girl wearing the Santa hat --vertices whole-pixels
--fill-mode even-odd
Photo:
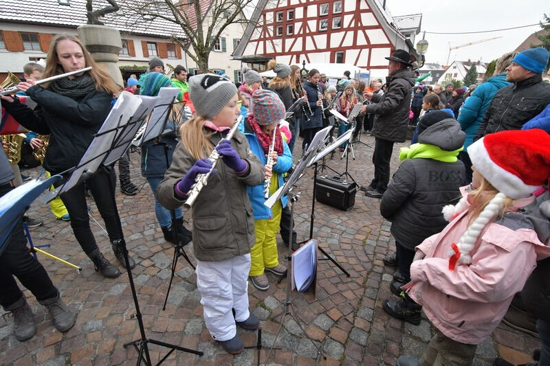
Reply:
[[[514,210],[533,201],[533,196],[515,200]],[[412,262],[411,282],[404,288],[423,306],[434,326],[450,339],[472,345],[481,343],[503,319],[536,261],[550,256],[537,233],[525,228],[529,225],[522,225],[517,215],[505,214],[504,220],[496,220],[507,226],[495,222],[487,225],[470,253],[472,264],[456,264],[454,271],[449,269],[448,251],[467,229],[467,210],[441,233],[416,247],[426,257]]]

